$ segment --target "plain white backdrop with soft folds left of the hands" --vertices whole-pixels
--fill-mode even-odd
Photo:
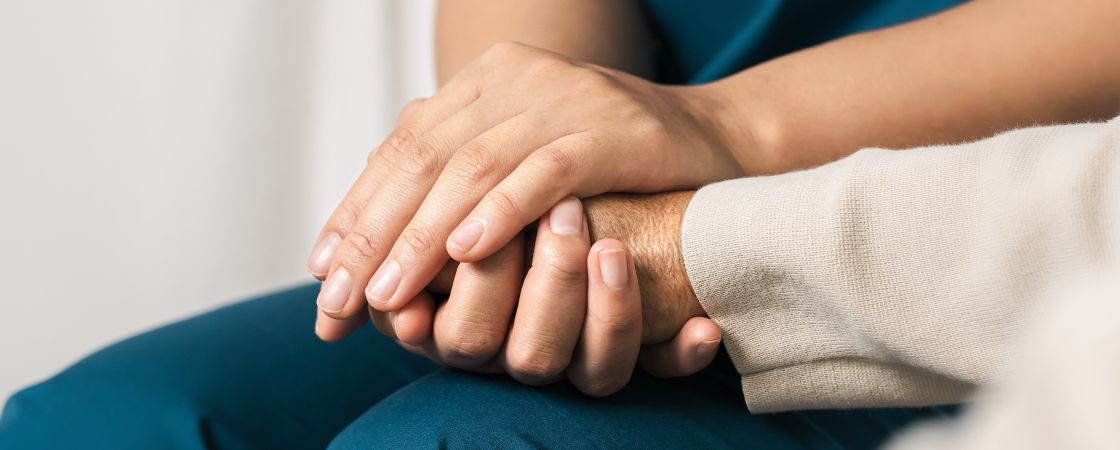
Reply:
[[[310,280],[365,154],[433,90],[432,3],[0,0],[0,400]]]

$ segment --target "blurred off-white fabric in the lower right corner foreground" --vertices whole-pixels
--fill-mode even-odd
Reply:
[[[956,421],[905,430],[892,450],[1120,449],[1120,268],[1048,296],[1010,376]]]

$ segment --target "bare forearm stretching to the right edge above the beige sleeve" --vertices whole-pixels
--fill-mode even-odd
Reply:
[[[696,87],[747,175],[1120,111],[1120,2],[974,1]]]

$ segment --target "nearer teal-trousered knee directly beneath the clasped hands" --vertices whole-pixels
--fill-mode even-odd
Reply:
[[[729,364],[683,379],[636,374],[591,399],[567,383],[438,371],[354,421],[332,450],[438,448],[870,449],[927,410],[753,415]]]

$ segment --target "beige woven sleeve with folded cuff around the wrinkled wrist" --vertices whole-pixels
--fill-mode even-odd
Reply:
[[[960,402],[1116,259],[1120,118],[700,189],[682,246],[754,412]]]

